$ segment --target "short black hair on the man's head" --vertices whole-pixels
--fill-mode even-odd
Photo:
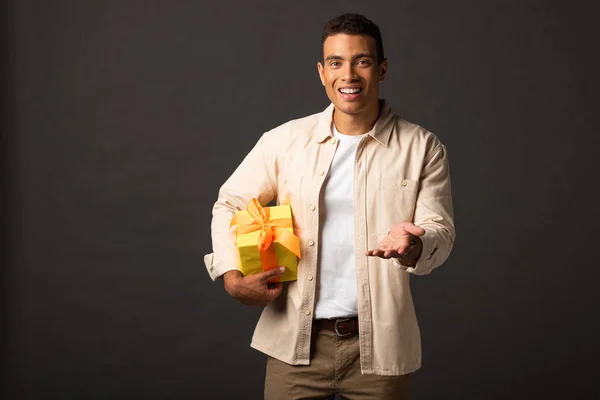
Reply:
[[[375,49],[377,51],[377,63],[381,64],[385,60],[383,54],[383,39],[379,27],[373,21],[361,14],[347,13],[342,14],[328,21],[323,28],[321,38],[321,62],[323,62],[323,44],[329,36],[345,33],[347,35],[366,35],[375,39]]]

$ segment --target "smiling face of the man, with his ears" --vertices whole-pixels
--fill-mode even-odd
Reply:
[[[359,116],[379,107],[379,83],[387,71],[387,61],[377,64],[371,36],[329,36],[323,43],[323,63],[317,67],[337,111]]]

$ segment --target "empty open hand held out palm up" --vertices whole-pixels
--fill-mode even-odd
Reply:
[[[381,240],[377,248],[367,250],[365,255],[380,258],[401,258],[409,263],[416,263],[421,255],[423,242],[419,236],[423,236],[425,230],[408,221],[400,222]],[[415,245],[411,246],[414,240]],[[408,252],[408,253],[407,253]],[[414,259],[414,260],[413,260]]]

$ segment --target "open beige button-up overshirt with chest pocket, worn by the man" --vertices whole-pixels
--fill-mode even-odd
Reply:
[[[212,279],[236,269],[229,230],[235,211],[250,199],[291,204],[302,259],[298,280],[264,308],[251,346],[283,362],[310,363],[317,284],[319,191],[337,146],[331,136],[333,104],[322,113],[266,132],[223,184],[213,208],[213,253],[204,261]],[[360,142],[354,169],[355,257],[359,342],[363,374],[402,375],[421,366],[421,338],[410,274],[425,275],[452,249],[450,174],[445,146],[431,132],[394,115],[382,101],[373,131]],[[414,267],[364,255],[391,227],[412,221],[425,230]]]

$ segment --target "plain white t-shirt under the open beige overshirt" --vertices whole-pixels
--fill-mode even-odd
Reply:
[[[358,315],[354,256],[354,164],[361,139],[333,127],[338,147],[319,198],[321,226],[315,318]]]

